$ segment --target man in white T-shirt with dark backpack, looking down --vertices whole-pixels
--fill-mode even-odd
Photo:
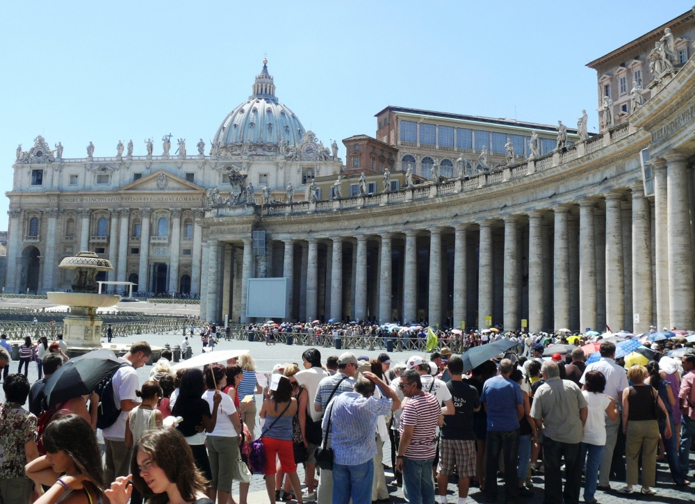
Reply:
[[[121,414],[113,425],[105,428],[104,446],[106,447],[106,466],[104,467],[104,481],[110,486],[119,476],[130,474],[130,461],[133,448],[126,447],[126,417],[131,409],[140,404],[136,390],[140,389],[140,380],[136,369],[147,364],[152,357],[152,348],[147,341],[133,343],[126,355],[118,360],[128,366],[122,366],[116,370],[111,379],[113,385],[113,398],[115,405],[121,410]],[[108,498],[102,497],[102,502],[108,504]]]

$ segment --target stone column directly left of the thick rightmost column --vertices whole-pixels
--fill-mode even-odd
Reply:
[[[654,232],[656,256],[656,319],[657,329],[671,329],[669,307],[669,213],[666,161],[653,159],[654,168]]]

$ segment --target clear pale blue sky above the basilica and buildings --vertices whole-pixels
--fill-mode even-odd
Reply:
[[[0,229],[17,144],[114,156],[131,138],[195,150],[251,94],[267,54],[279,101],[329,145],[375,135],[389,105],[597,131],[585,65],[692,8],[692,0],[111,1],[3,3]],[[155,142],[156,151],[161,148]],[[174,146],[175,147],[175,146]]]

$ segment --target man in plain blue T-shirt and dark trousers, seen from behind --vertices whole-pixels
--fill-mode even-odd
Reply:
[[[518,460],[519,420],[523,418],[521,387],[509,380],[514,364],[509,359],[500,362],[500,375],[485,382],[480,402],[487,412],[487,463],[485,473],[485,501],[497,500],[497,469],[500,451],[505,457],[505,468],[514,468]],[[505,471],[505,503],[518,502],[516,471]]]

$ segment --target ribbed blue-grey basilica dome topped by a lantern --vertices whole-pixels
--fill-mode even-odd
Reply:
[[[254,81],[253,95],[227,115],[215,133],[213,145],[226,149],[240,148],[245,143],[279,145],[283,140],[285,145],[300,145],[304,132],[299,117],[277,101],[268,60],[263,60],[263,70]]]

